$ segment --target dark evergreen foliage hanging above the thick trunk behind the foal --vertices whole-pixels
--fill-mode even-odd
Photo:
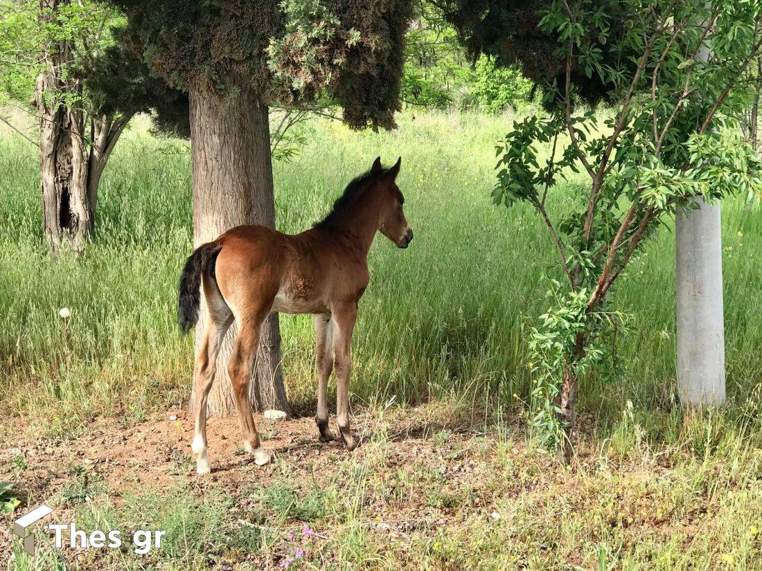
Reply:
[[[165,129],[176,122],[184,131],[184,97],[171,89],[203,89],[222,101],[242,82],[266,104],[299,107],[327,94],[354,128],[395,126],[410,0],[115,3],[127,23],[122,53],[111,51],[106,67],[117,71],[120,59],[142,63],[122,68],[128,72],[114,85],[125,88],[166,83],[155,99]]]

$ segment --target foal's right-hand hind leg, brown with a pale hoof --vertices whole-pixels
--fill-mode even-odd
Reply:
[[[264,313],[264,314],[263,314]],[[228,362],[228,372],[233,385],[233,396],[238,406],[243,431],[243,445],[246,451],[254,455],[255,464],[261,466],[270,461],[270,455],[265,452],[259,442],[259,434],[251,414],[251,401],[248,395],[249,379],[254,370],[259,332],[264,318],[269,311],[260,311],[239,321],[239,333],[235,338],[235,346]]]

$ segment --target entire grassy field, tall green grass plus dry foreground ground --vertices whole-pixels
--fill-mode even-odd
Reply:
[[[278,226],[299,231],[376,155],[402,155],[416,239],[400,251],[382,237],[370,254],[353,345],[352,405],[366,435],[357,455],[319,455],[309,419],[298,419],[271,426],[271,444],[285,447],[273,467],[234,461],[204,482],[190,474],[190,424],[178,412],[175,434],[167,420],[187,407],[192,366],[191,337],[175,324],[191,251],[187,143],[133,126],[104,175],[94,243],[78,259],[51,260],[36,149],[3,132],[0,480],[25,503],[76,514],[82,528],[168,529],[166,546],[142,558],[46,548],[30,561],[16,542],[18,566],[260,569],[287,560],[293,531],[306,555],[292,569],[762,568],[762,212],[742,197],[723,206],[728,407],[684,416],[677,406],[674,241],[662,231],[612,293],[632,333],[618,340],[615,380],[584,378],[579,458],[564,469],[522,417],[524,340],[546,306],[543,275],[556,269],[533,212],[489,200],[494,143],[509,120],[405,113],[380,134],[320,122],[297,158],[276,165]],[[569,181],[551,209],[583,182]],[[289,398],[309,416],[312,319],[280,323]],[[160,432],[155,447],[169,448],[145,461],[171,474],[139,486],[133,473],[115,479],[103,448],[114,435],[140,447],[146,426]],[[98,456],[97,433],[106,440],[92,468],[83,458]],[[212,437],[213,463],[216,445]],[[301,536],[304,522],[319,537]],[[10,548],[7,534],[0,547]]]

